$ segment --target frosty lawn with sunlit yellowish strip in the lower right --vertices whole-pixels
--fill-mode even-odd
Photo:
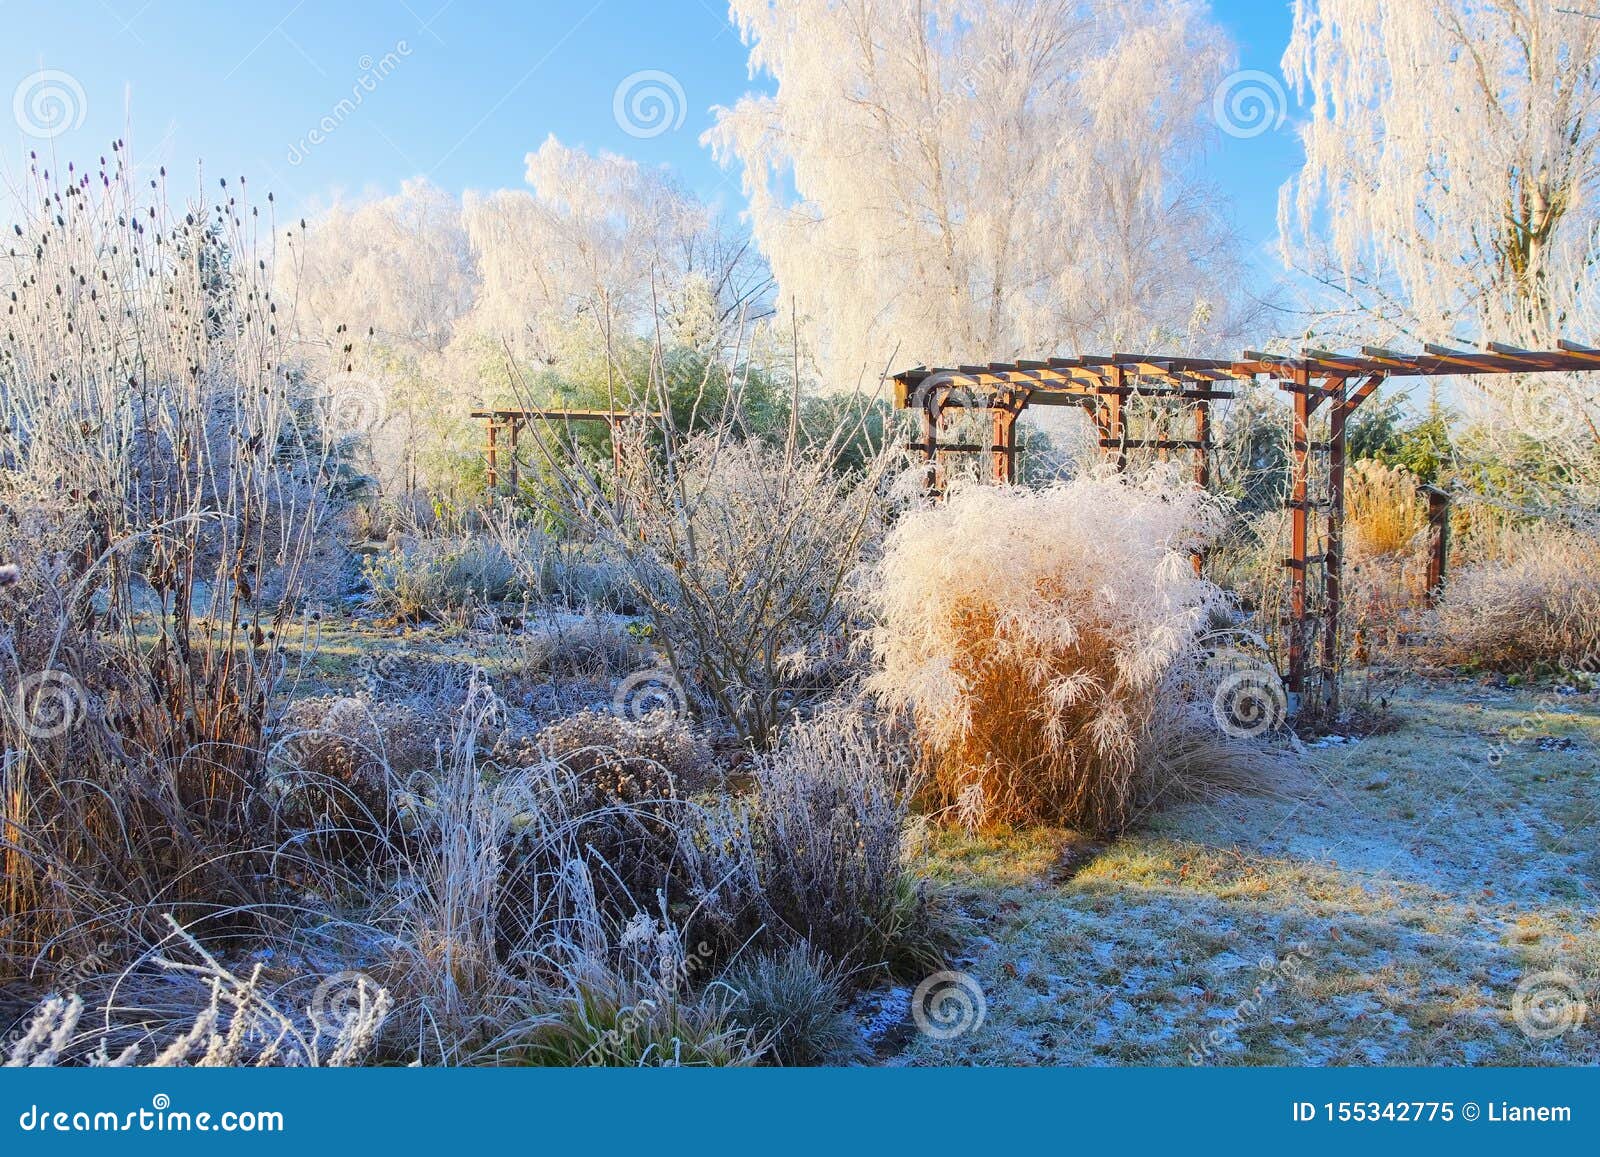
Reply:
[[[942,837],[987,1015],[891,1063],[1600,1059],[1600,703],[1434,683],[1397,706],[1397,731],[1312,749],[1298,800],[1186,805],[1104,847]],[[1533,1040],[1512,1000],[1546,970],[1589,1019]]]

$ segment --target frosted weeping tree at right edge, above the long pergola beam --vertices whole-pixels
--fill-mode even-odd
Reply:
[[[1597,320],[1600,18],[1544,0],[1298,0],[1285,253],[1378,336],[1547,346]]]

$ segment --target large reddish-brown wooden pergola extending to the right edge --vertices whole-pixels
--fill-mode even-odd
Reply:
[[[1307,707],[1338,714],[1339,613],[1342,610],[1346,426],[1357,406],[1387,378],[1443,378],[1456,374],[1526,374],[1600,370],[1600,349],[1560,342],[1547,352],[1491,342],[1486,352],[1426,346],[1422,354],[1365,347],[1344,355],[1306,349],[1293,357],[1246,350],[1235,360],[1149,357],[1045,358],[992,362],[954,370],[920,366],[894,376],[894,402],[922,413],[915,448],[928,464],[928,490],[944,488],[950,454],[990,454],[990,477],[1016,480],[1016,419],[1029,405],[1078,405],[1090,411],[1102,451],[1118,469],[1130,450],[1174,450],[1195,454],[1195,478],[1210,483],[1211,402],[1232,397],[1230,382],[1277,381],[1291,400],[1290,555],[1285,690],[1290,711]],[[1125,408],[1130,398],[1152,398],[1187,411],[1192,438],[1162,434],[1130,438]],[[941,442],[952,408],[984,411],[994,437],[987,445]],[[1170,427],[1170,422],[1168,422]],[[1442,571],[1435,578],[1443,578]]]

